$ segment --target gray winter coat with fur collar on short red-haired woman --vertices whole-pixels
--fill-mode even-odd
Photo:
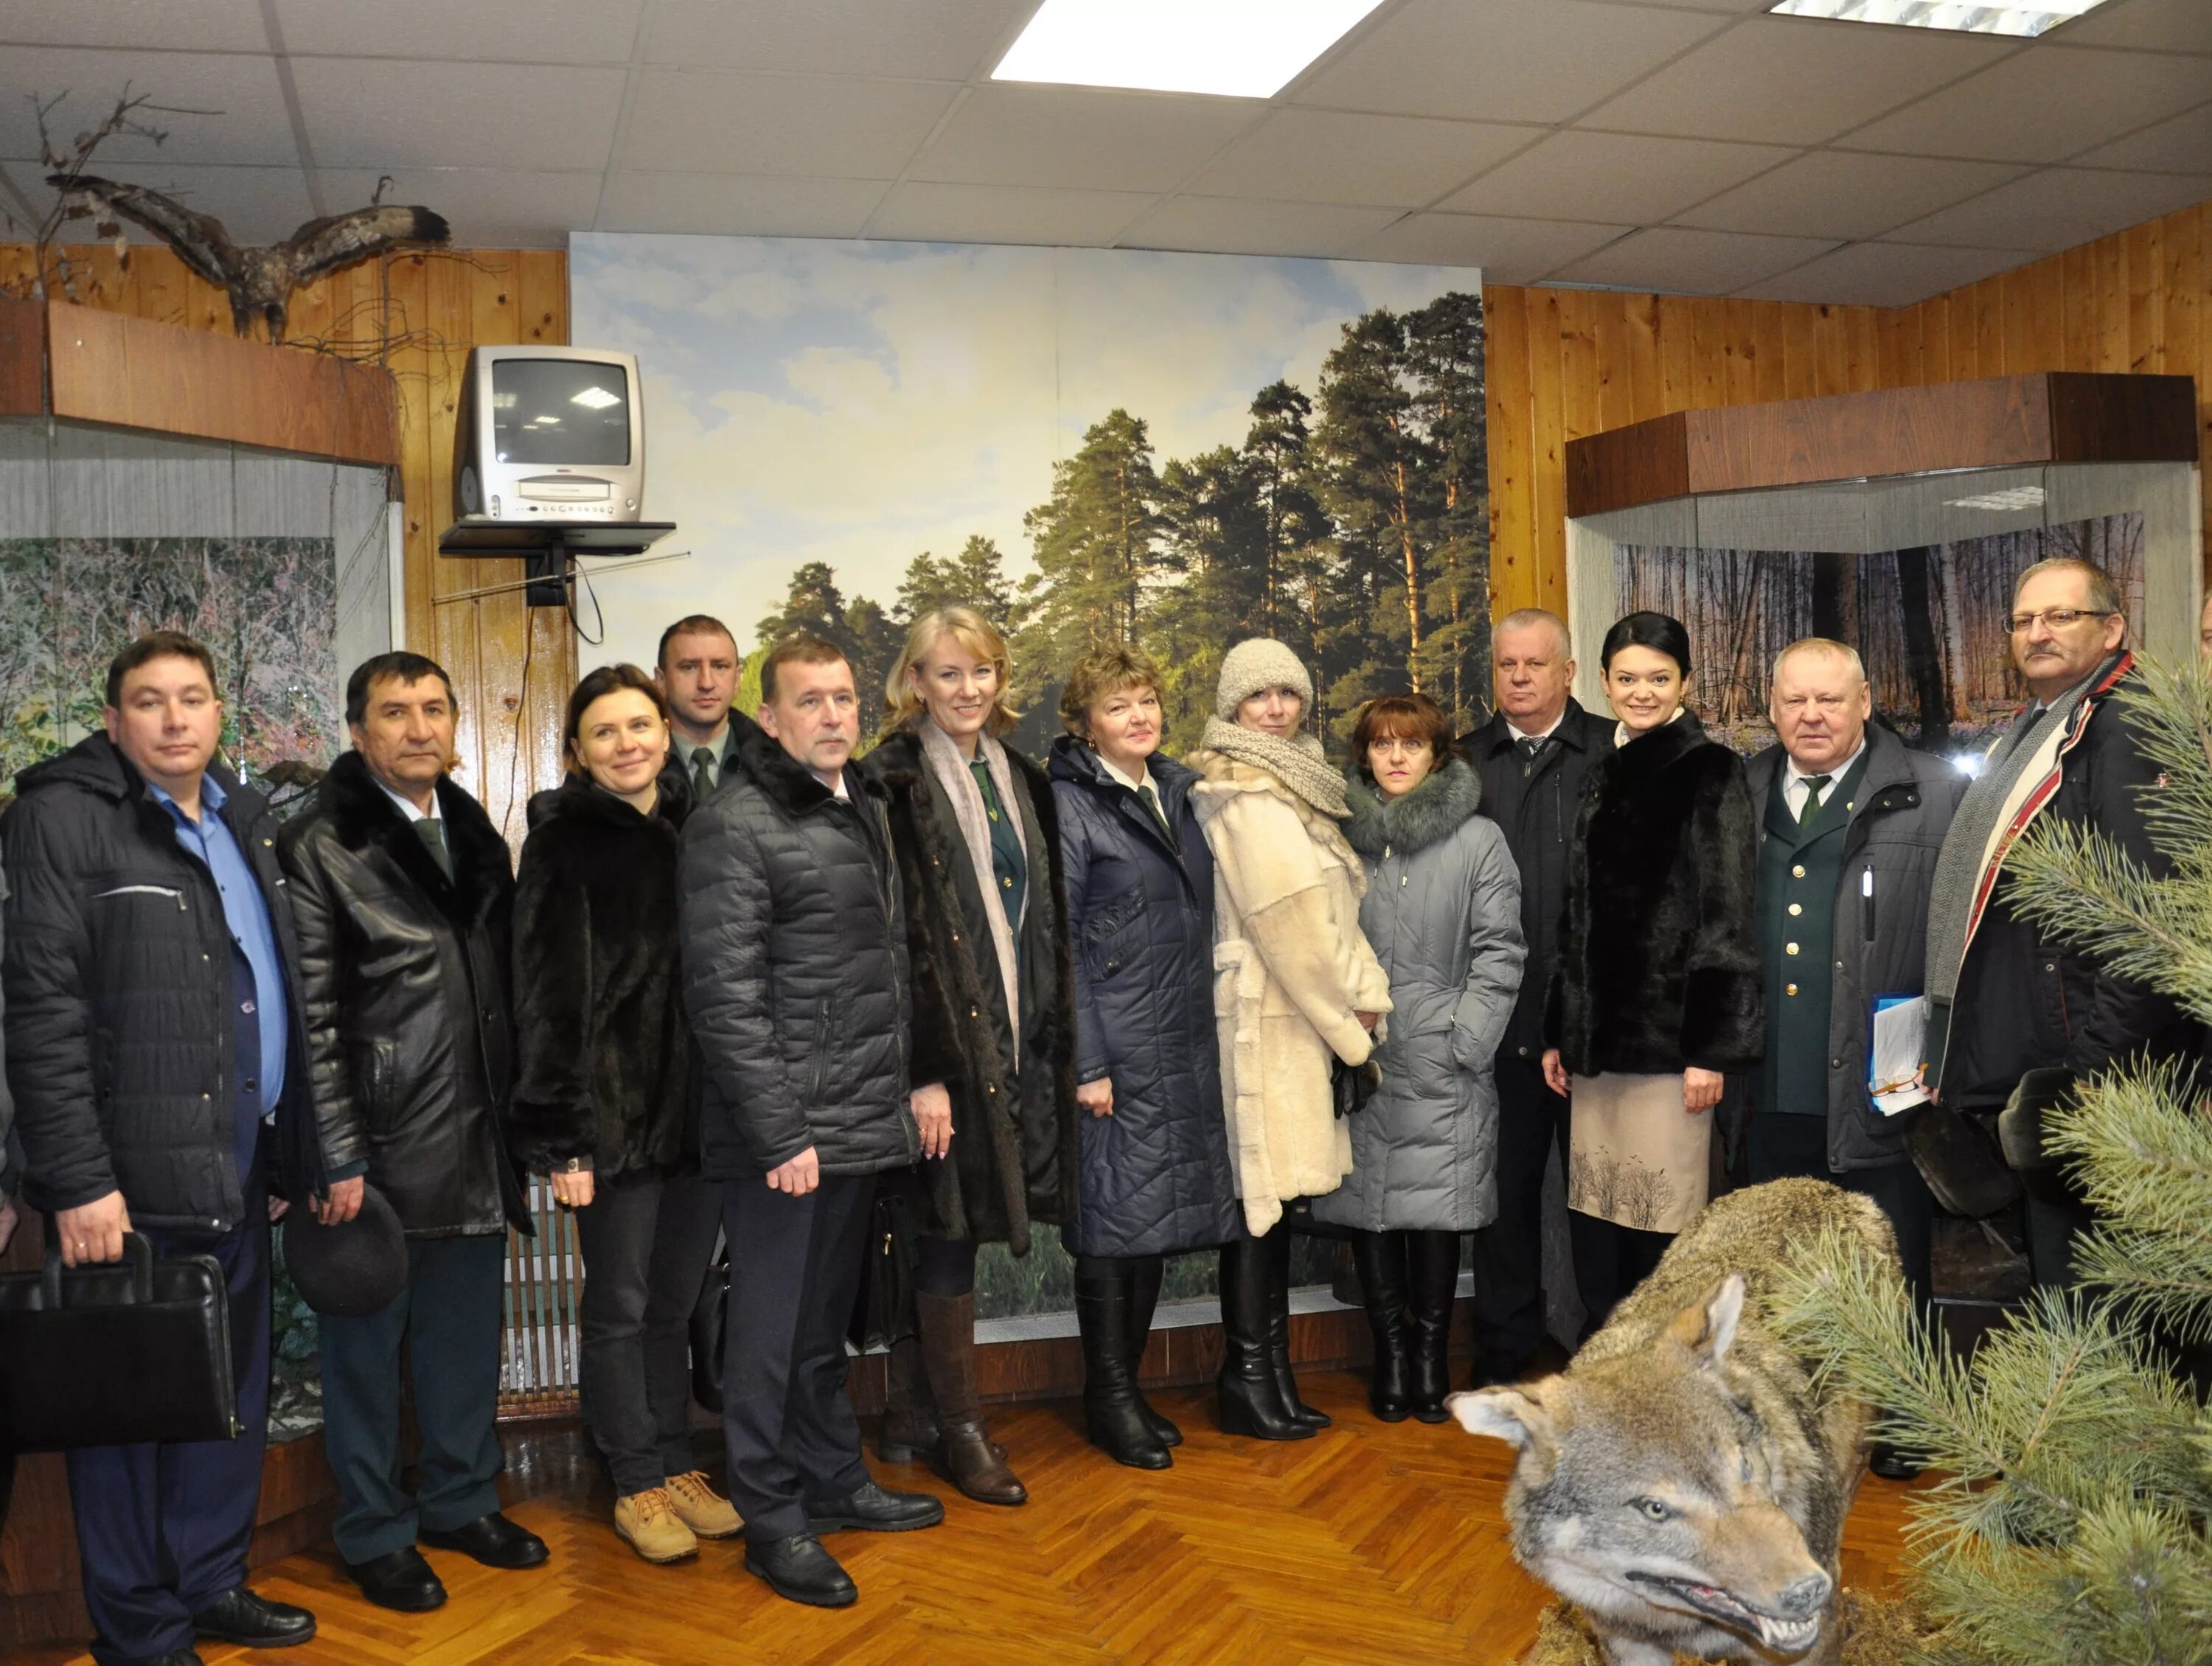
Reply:
[[[1383,1091],[1352,1117],[1352,1177],[1314,1217],[1469,1232],[1498,1215],[1491,1062],[1520,996],[1520,872],[1460,759],[1385,803],[1358,774],[1345,836],[1367,865],[1360,931],[1389,973]]]

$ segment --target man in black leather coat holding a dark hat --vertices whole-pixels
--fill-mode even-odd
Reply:
[[[279,841],[299,916],[325,1221],[376,1186],[407,1232],[407,1288],[367,1319],[323,1319],[332,1538],[369,1602],[436,1608],[416,1540],[484,1566],[546,1560],[500,1516],[500,1297],[507,1228],[529,1232],[500,1135],[513,1080],[507,996],[515,881],[507,841],[453,779],[453,686],[387,653],[345,686],[354,750]],[[420,1482],[400,1487],[400,1350]]]

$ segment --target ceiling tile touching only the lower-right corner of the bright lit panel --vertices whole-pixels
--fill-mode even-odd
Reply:
[[[1221,197],[1418,208],[1513,155],[1535,128],[1276,111],[1192,181]]]

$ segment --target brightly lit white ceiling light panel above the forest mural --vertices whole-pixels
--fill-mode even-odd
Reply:
[[[1274,97],[1383,0],[1044,0],[993,82]]]

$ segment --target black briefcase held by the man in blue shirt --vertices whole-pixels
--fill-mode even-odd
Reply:
[[[230,1297],[208,1254],[0,1277],[0,1447],[66,1451],[137,1440],[234,1440]]]

